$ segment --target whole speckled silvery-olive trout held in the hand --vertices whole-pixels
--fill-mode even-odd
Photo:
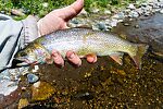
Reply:
[[[141,58],[148,45],[133,44],[106,32],[89,28],[67,28],[39,37],[17,52],[17,65],[45,63],[55,49],[65,58],[67,50],[75,51],[79,57],[87,55],[110,56],[117,63],[123,64],[123,55],[128,53],[137,68],[141,68]]]

